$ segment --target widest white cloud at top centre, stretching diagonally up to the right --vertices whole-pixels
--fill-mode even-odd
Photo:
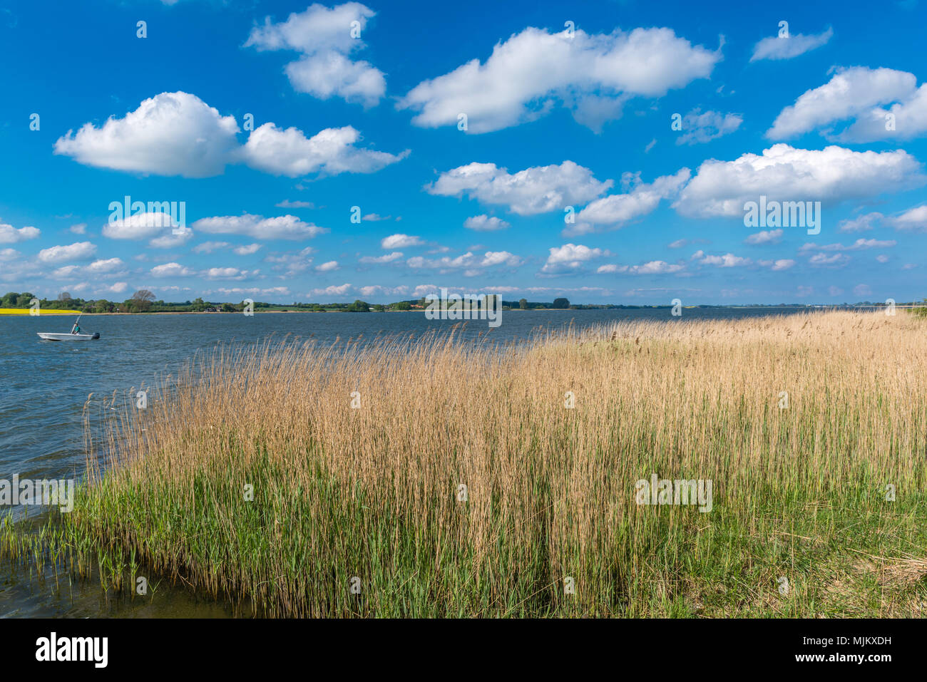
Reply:
[[[707,78],[720,59],[666,28],[571,35],[529,27],[496,44],[484,63],[472,59],[420,82],[397,107],[417,112],[421,127],[457,125],[463,113],[468,133],[489,133],[563,106],[599,130],[629,97],[660,97]]]

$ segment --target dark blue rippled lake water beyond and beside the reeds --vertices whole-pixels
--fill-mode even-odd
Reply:
[[[684,309],[684,320],[790,314],[804,309]],[[527,339],[541,328],[560,329],[628,319],[670,319],[669,309],[505,310],[491,339]],[[66,315],[0,317],[0,479],[80,478],[83,474],[83,404],[89,394],[108,396],[152,385],[160,373],[176,373],[197,351],[218,343],[256,343],[268,336],[312,336],[323,343],[363,335],[422,335],[449,332],[457,322],[425,319],[421,310],[372,313],[241,313],[94,315],[82,331],[99,332],[86,342],[42,341],[36,332],[69,332]],[[471,321],[465,336],[489,330]],[[0,509],[0,514],[21,509]],[[0,616],[223,616],[224,605],[200,600],[162,583],[154,598],[108,600],[98,583],[44,586],[0,566]]]

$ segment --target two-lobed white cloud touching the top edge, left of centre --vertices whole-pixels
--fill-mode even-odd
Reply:
[[[369,62],[352,61],[349,55],[365,47],[360,37],[367,21],[376,12],[360,3],[335,7],[314,4],[304,12],[294,12],[273,23],[270,17],[255,26],[246,47],[259,51],[290,50],[300,53],[297,61],[284,69],[293,89],[319,99],[333,96],[364,107],[375,106],[386,93],[383,71]],[[357,22],[352,24],[352,22]]]

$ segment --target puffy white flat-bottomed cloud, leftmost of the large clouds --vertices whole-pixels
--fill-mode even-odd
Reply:
[[[85,123],[55,143],[55,153],[96,168],[205,178],[219,175],[237,147],[234,116],[221,116],[197,95],[161,93],[124,119]]]

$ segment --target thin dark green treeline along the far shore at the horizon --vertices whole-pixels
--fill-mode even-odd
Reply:
[[[132,297],[124,301],[110,301],[106,298],[80,298],[72,297],[68,292],[62,292],[57,298],[37,298],[31,293],[15,291],[8,292],[3,298],[0,298],[0,308],[22,308],[28,309],[35,307],[33,301],[38,302],[40,309],[51,310],[74,310],[75,312],[241,312],[245,309],[244,301],[238,303],[204,301],[202,298],[195,298],[192,301],[176,303],[156,299],[155,295],[147,289],[136,291]],[[265,303],[256,301],[253,305],[255,310],[301,310],[308,312],[385,312],[387,310],[417,310],[425,309],[429,301],[425,297],[411,298],[409,300],[396,301],[395,303],[367,303],[361,299],[353,303]],[[921,302],[896,302],[896,306],[920,306],[915,309],[919,315],[927,316],[927,299]],[[835,304],[842,308],[884,308],[886,304],[883,301],[858,301],[857,303]],[[824,306],[811,305],[807,303],[779,303],[777,305],[750,304],[742,306],[687,306],[687,308],[712,309],[712,308],[822,308]],[[546,301],[529,301],[527,298],[521,298],[517,301],[502,301],[502,309],[521,309],[521,310],[543,310],[543,309],[571,309],[571,310],[590,310],[590,309],[669,309],[671,304],[664,306],[628,306],[615,305],[612,303],[602,304],[574,304],[566,298],[554,298],[550,302]]]

